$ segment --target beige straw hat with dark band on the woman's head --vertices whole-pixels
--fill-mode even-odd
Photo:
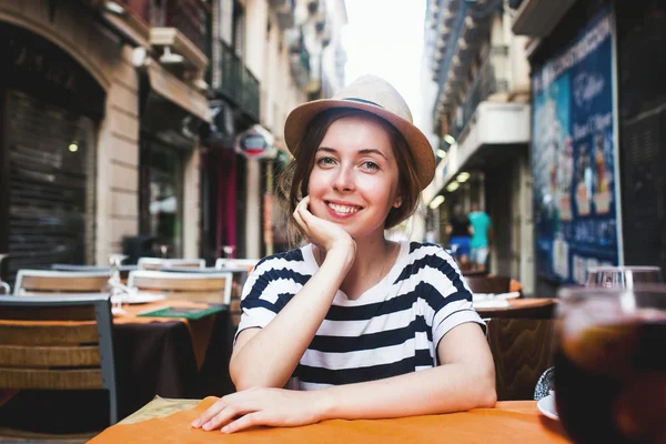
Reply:
[[[314,100],[294,108],[284,123],[284,141],[292,154],[312,119],[332,108],[367,111],[395,127],[412,150],[421,190],[431,183],[435,173],[435,155],[427,138],[414,125],[410,108],[402,95],[387,81],[376,75],[360,77],[331,99]]]

